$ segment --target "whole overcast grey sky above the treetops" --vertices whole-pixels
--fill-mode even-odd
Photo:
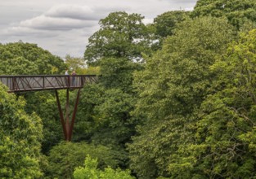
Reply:
[[[150,23],[166,11],[187,10],[196,0],[0,0],[0,43],[36,43],[53,55],[83,57],[88,37],[110,12],[145,16]]]

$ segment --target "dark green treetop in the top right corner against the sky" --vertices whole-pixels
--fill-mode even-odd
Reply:
[[[256,2],[254,0],[199,0],[192,11],[192,16],[200,15],[225,16],[239,29],[248,21],[256,23]]]

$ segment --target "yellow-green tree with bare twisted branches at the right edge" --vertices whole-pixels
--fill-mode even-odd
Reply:
[[[240,34],[239,41],[231,44],[212,69],[218,74],[213,83],[218,91],[209,95],[198,111],[195,143],[186,146],[189,155],[184,161],[198,178],[253,178],[256,30]],[[174,168],[177,164],[170,166]]]

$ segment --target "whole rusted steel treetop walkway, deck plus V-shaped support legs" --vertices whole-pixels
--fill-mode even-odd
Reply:
[[[16,93],[34,90],[55,89],[56,103],[61,117],[61,125],[66,141],[71,141],[74,119],[79,104],[80,89],[83,85],[97,81],[96,75],[19,75],[19,76],[0,76],[0,82],[7,85],[8,92]],[[58,89],[66,89],[65,117],[61,108]],[[75,100],[74,110],[70,119],[70,89],[79,89]]]

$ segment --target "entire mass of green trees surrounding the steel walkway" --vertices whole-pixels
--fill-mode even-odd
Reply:
[[[147,25],[112,12],[84,59],[0,44],[0,75],[101,74],[81,89],[72,142],[61,141],[54,91],[0,84],[0,177],[255,178],[255,4],[199,0]]]

